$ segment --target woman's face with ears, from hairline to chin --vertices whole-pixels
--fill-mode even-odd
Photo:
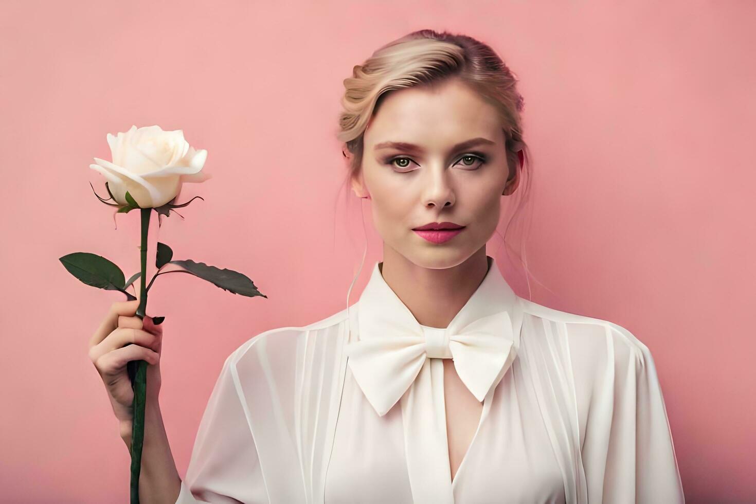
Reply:
[[[494,107],[457,80],[392,91],[364,133],[352,188],[370,195],[384,246],[421,267],[453,267],[485,247],[500,198],[519,179],[507,184],[516,166],[507,165],[504,142]],[[445,221],[464,228],[442,243],[413,230]]]

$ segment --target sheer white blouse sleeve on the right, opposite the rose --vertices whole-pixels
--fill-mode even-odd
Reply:
[[[605,326],[581,456],[589,502],[685,502],[662,388],[646,345]]]

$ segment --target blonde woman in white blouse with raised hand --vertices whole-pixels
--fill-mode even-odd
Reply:
[[[184,481],[151,391],[142,494],[683,502],[649,349],[614,323],[520,298],[486,254],[502,196],[524,190],[523,102],[507,66],[474,39],[422,30],[344,83],[348,180],[370,202],[383,261],[357,303],[348,293],[343,311],[228,357]],[[126,360],[159,364],[162,329],[133,317],[137,304],[114,304],[95,335],[95,356],[126,355],[117,319],[141,348],[95,361],[106,383]],[[128,445],[128,391],[109,392]]]

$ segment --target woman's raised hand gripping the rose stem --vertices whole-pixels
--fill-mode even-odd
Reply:
[[[156,403],[160,394],[160,349],[163,326],[136,317],[139,300],[116,301],[89,340],[89,358],[100,373],[105,390],[119,420],[122,437],[131,436],[134,390],[126,370],[130,360],[146,360],[147,404]]]

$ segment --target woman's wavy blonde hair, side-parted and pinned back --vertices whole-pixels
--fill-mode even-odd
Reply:
[[[433,29],[411,32],[383,45],[363,64],[354,66],[352,77],[344,79],[336,137],[350,153],[342,154],[351,158],[345,184],[361,171],[365,128],[390,91],[415,86],[432,88],[448,79],[459,79],[497,110],[510,172],[514,168],[515,178],[528,172],[525,184],[521,179],[516,189],[521,195],[515,214],[519,213],[530,192],[531,163],[528,145],[522,139],[525,100],[517,91],[517,77],[490,46],[469,36]],[[518,172],[519,150],[525,163]],[[502,240],[506,243],[503,237]],[[527,263],[522,258],[520,261],[527,271]]]

